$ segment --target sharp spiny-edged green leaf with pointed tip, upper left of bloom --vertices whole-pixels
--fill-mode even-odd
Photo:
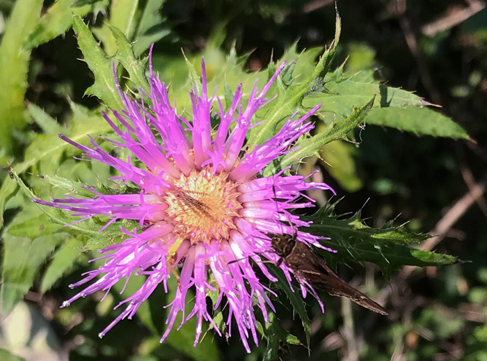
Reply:
[[[122,109],[122,100],[118,95],[115,74],[113,74],[113,61],[107,58],[104,51],[98,46],[81,17],[74,15],[73,29],[78,37],[79,49],[83,52],[86,64],[95,74],[95,83],[86,90],[86,94],[99,97],[111,109]]]

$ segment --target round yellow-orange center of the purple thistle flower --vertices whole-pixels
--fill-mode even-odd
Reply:
[[[214,175],[209,166],[181,175],[163,196],[168,204],[166,220],[175,225],[173,233],[191,244],[228,239],[242,208],[238,186],[228,173]]]

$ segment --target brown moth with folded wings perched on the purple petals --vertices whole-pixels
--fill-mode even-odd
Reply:
[[[346,297],[378,314],[388,314],[384,308],[371,298],[362,294],[342,280],[326,265],[324,259],[316,255],[305,243],[290,234],[267,234],[280,262],[284,262],[294,273],[299,283],[306,282],[312,287],[327,291],[331,296]]]

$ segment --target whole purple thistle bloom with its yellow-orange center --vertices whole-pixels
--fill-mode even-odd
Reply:
[[[88,287],[63,303],[70,305],[78,298],[97,291],[108,292],[114,284],[128,278],[132,273],[146,275],[141,289],[129,296],[125,310],[99,335],[102,337],[120,320],[131,319],[138,307],[159,284],[167,292],[170,274],[177,275],[176,296],[170,307],[166,323],[168,327],[161,342],[168,337],[179,312],[182,324],[196,317],[195,345],[202,333],[202,320],[213,324],[216,332],[221,330],[213,323],[207,311],[207,291],[217,291],[216,310],[224,300],[228,307],[226,320],[228,334],[235,321],[242,342],[248,352],[248,339],[258,342],[257,321],[254,305],[260,308],[268,321],[267,307],[274,310],[268,294],[273,294],[257,278],[250,259],[262,274],[276,282],[269,273],[264,259],[278,262],[280,257],[271,247],[268,234],[293,234],[298,241],[323,248],[319,236],[297,232],[297,227],[308,226],[288,210],[311,207],[313,201],[295,203],[308,190],[333,190],[324,183],[305,182],[299,175],[257,177],[264,167],[280,155],[292,150],[300,136],[313,128],[308,118],[319,106],[302,118],[287,120],[276,136],[250,152],[244,152],[246,134],[251,127],[251,118],[268,99],[266,92],[276,80],[285,64],[260,91],[253,87],[248,103],[242,106],[241,84],[237,87],[230,109],[224,111],[218,98],[208,97],[205,64],[202,61],[202,93],[191,92],[192,121],[177,115],[171,106],[166,85],[161,83],[150,64],[150,102],[133,101],[120,91],[125,109],[112,111],[121,127],[104,113],[104,118],[120,137],[112,141],[126,148],[138,162],[118,159],[102,150],[93,138],[92,147],[75,143],[65,136],[63,140],[79,148],[92,161],[106,163],[118,170],[125,183],[135,184],[140,191],[134,194],[105,195],[93,188],[93,198],[68,197],[52,202],[34,200],[40,204],[74,212],[86,220],[93,216],[108,216],[107,225],[118,219],[138,220],[141,230],[129,232],[119,244],[106,247],[102,253],[104,265],[87,273],[83,280],[72,284],[79,287],[93,280]],[[216,100],[216,114],[221,118],[216,131],[212,132],[211,106]],[[150,104],[150,106],[147,106]],[[152,129],[157,131],[154,135]],[[158,141],[161,138],[162,142]],[[143,168],[138,164],[143,163]],[[106,226],[105,226],[106,227]],[[103,230],[103,229],[102,229]],[[102,231],[100,230],[100,231]],[[237,262],[235,262],[237,261]],[[291,282],[292,271],[284,262],[280,268]],[[179,272],[176,272],[179,269]],[[209,282],[209,272],[213,280]],[[194,307],[186,312],[189,289],[194,289]],[[303,296],[305,287],[301,284]],[[312,287],[308,287],[318,298]],[[225,296],[225,298],[223,298]],[[319,298],[318,298],[319,299]],[[320,303],[321,304],[321,303]],[[118,306],[117,306],[118,307]],[[322,307],[323,308],[323,307]],[[180,327],[179,326],[179,327]]]

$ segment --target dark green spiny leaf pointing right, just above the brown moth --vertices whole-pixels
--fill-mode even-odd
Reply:
[[[328,237],[320,243],[337,250],[333,254],[319,250],[332,266],[349,260],[367,261],[380,266],[389,277],[391,271],[401,266],[442,266],[456,262],[453,256],[408,247],[429,238],[428,234],[408,232],[404,226],[394,227],[391,223],[371,228],[360,219],[360,211],[351,218],[339,219],[334,208],[335,204],[327,204],[317,214],[305,218],[313,222],[307,232]]]

